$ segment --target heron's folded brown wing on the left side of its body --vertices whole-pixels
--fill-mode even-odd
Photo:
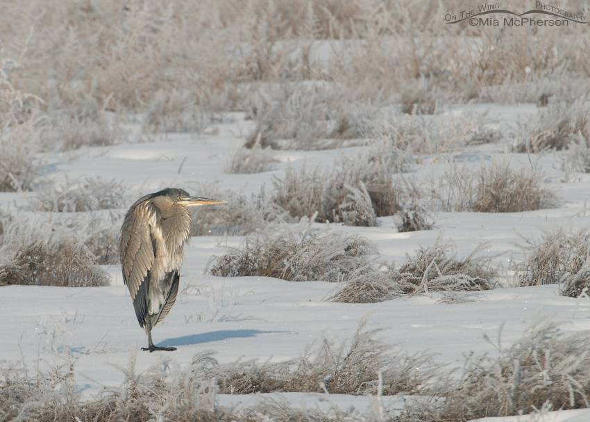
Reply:
[[[121,227],[121,268],[123,279],[135,307],[135,314],[143,327],[147,314],[149,271],[155,259],[150,226],[156,222],[155,209],[139,204],[127,213]]]

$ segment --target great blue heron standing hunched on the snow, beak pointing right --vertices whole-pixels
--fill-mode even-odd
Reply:
[[[131,206],[121,226],[121,268],[140,327],[145,327],[149,347],[151,329],[168,315],[176,301],[183,246],[190,238],[191,213],[187,206],[224,201],[190,196],[185,190],[166,188],[141,197]]]

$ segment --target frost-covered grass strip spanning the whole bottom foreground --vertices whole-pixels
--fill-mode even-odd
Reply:
[[[125,365],[111,364],[124,375],[123,382],[85,401],[74,393],[74,357],[56,349],[58,363],[47,362],[42,369],[37,366],[36,373],[24,361],[0,363],[0,410],[5,419],[35,421],[143,422],[154,416],[178,421],[266,421],[269,416],[288,416],[289,421],[366,421],[380,416],[395,421],[450,422],[589,406],[586,350],[590,334],[564,336],[550,316],[535,320],[509,348],[501,342],[500,327],[496,343],[486,337],[498,353],[466,356],[457,380],[444,376],[441,366],[432,363],[434,354],[407,355],[376,339],[379,330],[365,330],[365,324],[362,320],[349,346],[323,339],[319,349],[307,348],[300,357],[281,364],[219,364],[213,352],[200,352],[188,370],[167,359],[138,372],[136,349],[132,348]],[[52,345],[60,342],[60,324],[45,324],[42,329]],[[321,393],[319,398],[329,403],[336,397],[332,394],[339,393],[374,398],[369,412],[359,414],[332,403],[327,411],[320,407],[304,411],[280,396],[264,397],[254,406],[234,407],[220,404],[222,396],[218,396],[285,391]],[[412,392],[420,396],[401,408],[382,404],[385,396]]]

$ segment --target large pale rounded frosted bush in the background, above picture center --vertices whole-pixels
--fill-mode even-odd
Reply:
[[[329,149],[345,139],[368,138],[371,106],[351,104],[350,96],[327,83],[261,88],[251,99],[249,115],[256,128],[246,147],[259,140],[262,147],[273,149]]]

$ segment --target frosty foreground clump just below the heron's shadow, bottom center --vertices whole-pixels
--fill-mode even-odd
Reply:
[[[221,365],[210,375],[215,376],[219,392],[226,394],[328,391],[330,394],[374,395],[378,393],[379,371],[383,395],[428,391],[428,381],[440,367],[429,362],[434,355],[428,352],[407,355],[403,348],[376,339],[378,332],[379,329],[366,330],[364,318],[350,344],[324,337],[319,348],[313,350],[312,343],[303,355],[287,362],[238,361]]]

